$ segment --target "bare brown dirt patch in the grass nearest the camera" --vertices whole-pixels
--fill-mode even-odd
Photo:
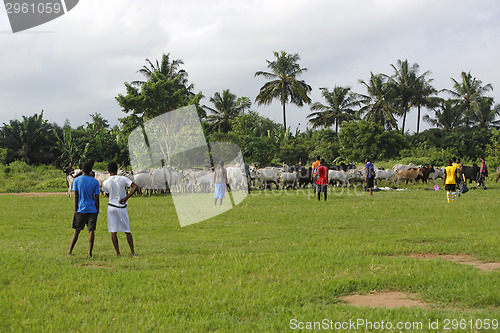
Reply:
[[[367,306],[371,308],[429,307],[427,303],[417,300],[417,296],[418,294],[405,294],[398,291],[388,291],[369,295],[349,295],[340,297],[340,299],[349,305]]]

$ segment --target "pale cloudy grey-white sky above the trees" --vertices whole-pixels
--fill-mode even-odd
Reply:
[[[491,0],[81,0],[65,15],[12,33],[0,5],[0,124],[39,114],[73,128],[100,113],[111,125],[124,82],[141,80],[146,58],[184,62],[202,104],[229,89],[255,101],[273,52],[298,53],[298,78],[324,103],[319,88],[349,86],[370,72],[392,74],[398,59],[429,71],[437,89],[451,89],[462,71],[500,102],[500,2]],[[442,94],[442,97],[450,97]],[[282,123],[279,101],[252,105]],[[304,130],[310,107],[287,106],[292,131]],[[424,110],[424,114],[430,111]],[[416,130],[416,110],[406,129]],[[432,115],[432,114],[431,114]],[[401,121],[400,121],[401,123]],[[429,128],[422,123],[421,129]]]

